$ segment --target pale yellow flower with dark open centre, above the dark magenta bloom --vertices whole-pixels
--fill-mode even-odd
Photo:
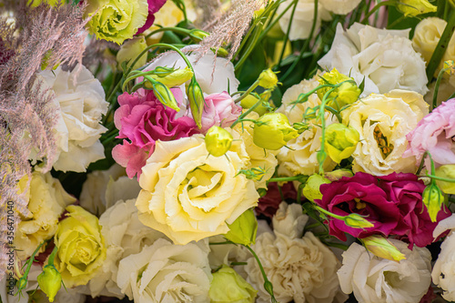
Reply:
[[[402,157],[408,146],[406,135],[427,114],[423,96],[399,89],[384,95],[371,94],[342,111],[343,123],[360,135],[352,154],[352,170],[375,176],[415,173],[415,157]]]

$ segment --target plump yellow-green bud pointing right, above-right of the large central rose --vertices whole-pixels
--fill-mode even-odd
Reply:
[[[281,113],[260,116],[253,130],[253,142],[259,147],[277,150],[289,140],[298,137],[298,132],[289,125],[288,117]]]

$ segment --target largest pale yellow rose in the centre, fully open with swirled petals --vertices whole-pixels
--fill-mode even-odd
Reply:
[[[139,178],[141,222],[182,245],[226,234],[227,224],[258,202],[254,182],[238,174],[248,154],[234,148],[211,157],[203,136],[158,140]]]

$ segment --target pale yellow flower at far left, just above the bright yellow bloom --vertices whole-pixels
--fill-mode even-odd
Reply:
[[[56,233],[58,218],[65,207],[76,198],[66,193],[58,179],[50,173],[34,172],[28,191],[27,217],[22,217],[15,231],[15,247],[18,258],[30,257],[43,241]],[[42,247],[41,251],[44,251]]]

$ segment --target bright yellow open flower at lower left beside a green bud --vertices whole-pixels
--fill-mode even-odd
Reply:
[[[60,221],[54,237],[58,248],[55,266],[66,288],[73,288],[96,276],[106,259],[106,246],[97,217],[82,207],[66,210],[68,217]]]

